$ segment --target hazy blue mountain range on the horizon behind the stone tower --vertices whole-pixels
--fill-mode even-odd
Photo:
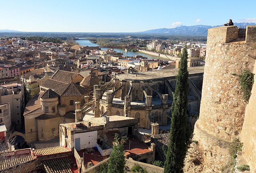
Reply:
[[[256,25],[255,23],[234,23],[236,26]],[[193,26],[177,26],[176,28],[159,28],[142,31],[138,33],[148,34],[168,34],[168,35],[191,35],[191,36],[207,36],[208,29],[224,25],[210,26],[210,25],[193,25]]]

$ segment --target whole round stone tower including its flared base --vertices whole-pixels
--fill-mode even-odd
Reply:
[[[221,172],[226,162],[229,142],[239,137],[247,104],[238,75],[244,69],[253,71],[256,55],[256,27],[247,26],[246,38],[239,39],[237,26],[208,30],[206,63],[194,140],[201,148],[204,166]],[[205,170],[204,170],[205,171]]]

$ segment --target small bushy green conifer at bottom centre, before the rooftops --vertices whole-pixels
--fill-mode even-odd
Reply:
[[[108,173],[124,173],[125,157],[124,157],[124,140],[115,134],[115,143],[113,150],[109,156],[108,160]]]

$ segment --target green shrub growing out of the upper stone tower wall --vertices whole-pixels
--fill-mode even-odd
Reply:
[[[252,94],[251,91],[254,83],[254,74],[248,70],[244,70],[241,75],[239,75],[239,82],[243,92],[243,98],[248,104],[249,98]]]

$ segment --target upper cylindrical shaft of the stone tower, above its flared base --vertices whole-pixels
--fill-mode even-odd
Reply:
[[[230,34],[237,35],[236,29],[236,26],[229,26],[208,30],[199,117],[199,125],[207,132],[227,140],[241,132],[244,121],[246,103],[238,75],[244,69],[252,71],[255,61],[252,44],[226,43],[234,40]]]

